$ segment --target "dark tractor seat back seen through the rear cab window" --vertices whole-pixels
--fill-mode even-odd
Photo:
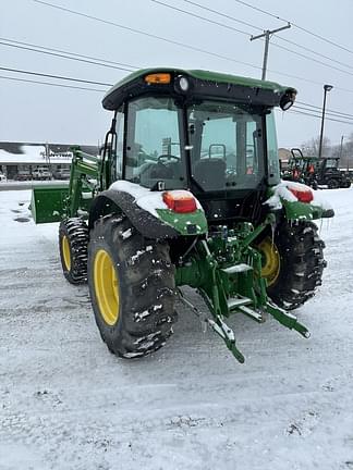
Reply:
[[[205,190],[222,190],[226,187],[226,166],[223,159],[202,159],[193,166],[193,177]]]

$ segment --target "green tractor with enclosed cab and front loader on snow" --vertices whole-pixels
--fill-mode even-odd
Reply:
[[[244,361],[226,320],[271,316],[304,337],[288,310],[321,283],[313,220],[333,215],[311,188],[281,183],[273,108],[293,88],[206,71],[142,70],[102,100],[113,112],[101,156],[74,149],[69,187],[36,187],[37,223],[60,222],[64,276],[88,287],[102,341],[123,358],[172,334],[175,301]],[[185,297],[200,294],[209,314]]]

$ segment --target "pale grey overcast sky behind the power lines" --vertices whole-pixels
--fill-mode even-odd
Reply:
[[[119,23],[145,33],[183,42],[194,48],[223,55],[217,58],[147,36],[124,30],[35,2],[34,0],[1,1],[0,36],[32,45],[65,50],[131,65],[131,69],[176,66],[205,69],[260,78],[264,42],[249,41],[249,36],[206,23],[200,18],[157,4],[151,0],[46,0],[70,10]],[[161,0],[200,16],[227,24],[245,33],[259,29],[235,23],[192,5],[184,0]],[[236,17],[260,29],[273,29],[285,23],[254,11],[235,0],[194,0],[204,7]],[[352,0],[246,0],[247,3],[275,13],[294,24],[325,36],[353,51]],[[284,42],[282,38],[327,55],[314,55]],[[330,46],[303,30],[292,27],[276,35],[270,45],[267,78],[299,90],[297,100],[322,106],[324,84],[333,85],[327,96],[327,108],[353,114],[353,53]],[[273,44],[328,63],[333,70],[277,48]],[[54,58],[0,45],[0,66],[45,74],[62,75],[93,82],[113,84],[129,72],[96,64]],[[233,59],[233,61],[231,60]],[[246,62],[244,65],[240,62]],[[282,75],[282,74],[288,74]],[[80,84],[40,78],[0,71],[0,140],[51,141],[96,145],[104,139],[111,113],[101,108],[106,86],[81,85],[101,91],[59,88],[14,82],[2,77],[56,82],[72,86]],[[306,81],[305,81],[306,79]],[[312,83],[314,82],[314,83]],[[320,113],[320,111],[318,111]],[[333,116],[331,116],[333,118]],[[336,118],[337,119],[337,118]],[[315,137],[320,120],[277,112],[279,146],[295,147]],[[353,133],[352,124],[326,121],[325,135],[331,144]]]

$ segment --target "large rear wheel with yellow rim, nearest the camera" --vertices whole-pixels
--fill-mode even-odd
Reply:
[[[102,341],[123,358],[165,345],[175,321],[174,268],[167,243],[147,240],[127,218],[100,218],[90,233],[88,286]]]

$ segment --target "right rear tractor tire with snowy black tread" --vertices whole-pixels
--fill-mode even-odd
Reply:
[[[272,244],[270,236],[266,240]],[[293,310],[312,298],[321,285],[326,267],[322,252],[325,244],[317,235],[314,223],[299,222],[291,225],[283,222],[276,230],[272,247],[279,263],[277,270],[272,270],[270,282],[268,279],[267,293],[279,307]]]

